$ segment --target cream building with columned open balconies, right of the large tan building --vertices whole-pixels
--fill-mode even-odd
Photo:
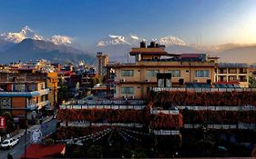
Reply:
[[[219,84],[239,84],[249,86],[249,65],[236,63],[220,63],[215,71],[215,81]]]

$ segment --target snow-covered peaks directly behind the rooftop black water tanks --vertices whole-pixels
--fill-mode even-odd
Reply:
[[[165,36],[159,39],[146,40],[145,38],[138,37],[137,35],[108,35],[107,38],[100,40],[97,46],[109,46],[109,45],[138,45],[141,41],[155,41],[161,45],[186,45],[186,43],[176,36]]]

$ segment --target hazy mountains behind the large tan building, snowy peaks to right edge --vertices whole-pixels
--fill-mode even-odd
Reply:
[[[94,52],[100,51],[108,53],[114,61],[127,62],[130,60],[128,52],[132,47],[138,47],[139,42],[141,41],[145,41],[147,45],[149,45],[151,41],[166,45],[166,51],[172,54],[204,53],[212,56],[219,56],[219,61],[224,63],[256,63],[256,44],[187,45],[182,39],[172,35],[151,40],[145,40],[145,38],[140,38],[136,35],[109,35],[107,38],[104,38],[97,43]]]

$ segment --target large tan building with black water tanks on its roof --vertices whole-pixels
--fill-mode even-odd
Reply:
[[[108,68],[116,69],[115,97],[143,98],[149,87],[184,86],[189,83],[210,84],[214,82],[214,71],[218,57],[205,54],[168,54],[164,45],[151,42],[146,47],[141,42],[139,48],[129,53],[135,56],[133,64],[114,64]],[[108,69],[109,70],[109,69]],[[159,73],[170,73],[169,80],[163,82]]]

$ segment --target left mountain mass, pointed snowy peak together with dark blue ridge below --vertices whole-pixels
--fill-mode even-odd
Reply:
[[[65,35],[45,38],[28,26],[18,33],[4,33],[0,35],[0,64],[38,59],[76,64],[83,60],[89,65],[94,64],[95,56],[70,46],[71,39]]]

